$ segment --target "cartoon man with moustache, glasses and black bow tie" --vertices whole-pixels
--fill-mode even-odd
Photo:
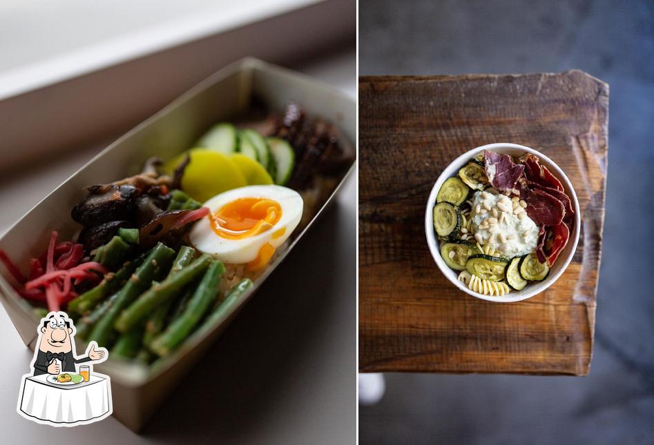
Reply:
[[[77,373],[76,364],[91,361],[102,362],[106,355],[106,350],[97,348],[95,342],[90,342],[88,345],[86,357],[73,355],[75,328],[66,313],[50,313],[39,331],[39,352],[32,364],[34,375]]]

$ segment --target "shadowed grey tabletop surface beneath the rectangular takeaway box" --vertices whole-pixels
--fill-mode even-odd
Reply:
[[[356,94],[354,45],[288,66]],[[1,175],[0,231],[108,142]],[[0,444],[353,443],[355,255],[356,181],[351,175],[334,207],[266,280],[140,435],[113,417],[52,428],[19,416],[20,379],[29,370],[32,352],[0,309]]]

